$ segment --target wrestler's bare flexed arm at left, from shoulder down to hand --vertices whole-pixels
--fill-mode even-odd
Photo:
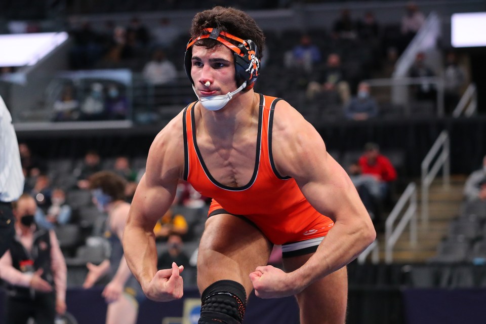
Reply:
[[[151,299],[160,301],[171,298],[166,299],[165,293],[161,296],[160,287],[157,286],[155,289],[157,251],[153,228],[157,219],[170,208],[178,180],[183,172],[184,145],[181,118],[182,114],[179,114],[152,143],[147,157],[146,171],[135,191],[123,233],[124,254],[130,270],[140,282],[145,294]],[[177,278],[179,271],[176,270],[177,267],[173,267],[171,273]],[[161,272],[159,276],[161,275],[166,273]],[[166,275],[166,277],[170,276],[171,274]],[[182,280],[180,277],[177,279]],[[153,291],[154,289],[157,291]],[[182,296],[182,288],[180,289]]]

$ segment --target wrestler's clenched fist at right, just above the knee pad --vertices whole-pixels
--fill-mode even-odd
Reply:
[[[250,273],[250,280],[255,288],[255,295],[260,298],[287,297],[299,292],[289,273],[271,265],[257,267]]]

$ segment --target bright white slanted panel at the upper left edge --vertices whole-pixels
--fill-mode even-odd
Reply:
[[[34,65],[67,38],[65,31],[0,35],[0,67]]]

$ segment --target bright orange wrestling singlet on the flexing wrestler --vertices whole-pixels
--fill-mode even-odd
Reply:
[[[273,111],[280,99],[260,95],[255,169],[248,184],[228,187],[210,174],[197,147],[193,108],[184,111],[184,180],[212,197],[209,215],[228,213],[254,223],[273,244],[281,245],[326,236],[333,221],[317,212],[293,178],[278,174],[271,143]]]

